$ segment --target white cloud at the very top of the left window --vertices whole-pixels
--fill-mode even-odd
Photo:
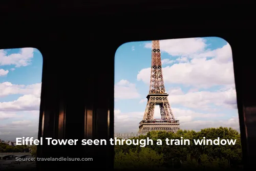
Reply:
[[[0,50],[0,66],[14,65],[15,67],[25,67],[31,64],[33,58],[33,48],[22,48],[20,53],[7,55],[7,51]]]

